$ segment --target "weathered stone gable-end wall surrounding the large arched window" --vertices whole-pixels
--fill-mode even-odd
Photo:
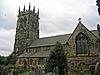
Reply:
[[[78,54],[76,55],[76,36],[79,33],[84,33],[89,37],[89,54]],[[96,58],[98,57],[98,51],[96,50],[97,37],[89,31],[80,22],[74,32],[72,33],[70,39],[68,40],[68,64],[69,68],[72,70],[78,70],[80,65],[84,66],[84,69],[89,69],[89,65],[96,63]],[[82,66],[82,68],[83,68]]]

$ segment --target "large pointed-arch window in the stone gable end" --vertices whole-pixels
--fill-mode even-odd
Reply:
[[[88,52],[88,37],[83,33],[79,33],[76,37],[76,54],[88,54]]]

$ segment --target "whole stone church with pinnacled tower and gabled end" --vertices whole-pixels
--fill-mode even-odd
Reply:
[[[62,14],[63,15],[63,14]],[[75,30],[71,34],[39,38],[39,10],[35,7],[18,13],[13,55],[17,55],[17,66],[26,68],[45,68],[49,54],[59,41],[66,53],[70,70],[89,68],[95,64],[99,56],[100,44],[97,30],[89,30],[79,18]]]

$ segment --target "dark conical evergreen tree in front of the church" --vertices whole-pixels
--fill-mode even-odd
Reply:
[[[48,72],[53,72],[53,69],[58,67],[59,75],[64,75],[64,69],[67,69],[67,59],[65,50],[60,42],[55,44],[54,49],[50,53],[50,57],[47,62]]]

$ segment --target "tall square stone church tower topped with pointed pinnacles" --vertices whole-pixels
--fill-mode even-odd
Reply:
[[[31,10],[29,3],[29,9],[25,9],[18,13],[14,54],[20,55],[22,52],[27,51],[32,41],[39,38],[39,9],[35,12],[35,6]]]

